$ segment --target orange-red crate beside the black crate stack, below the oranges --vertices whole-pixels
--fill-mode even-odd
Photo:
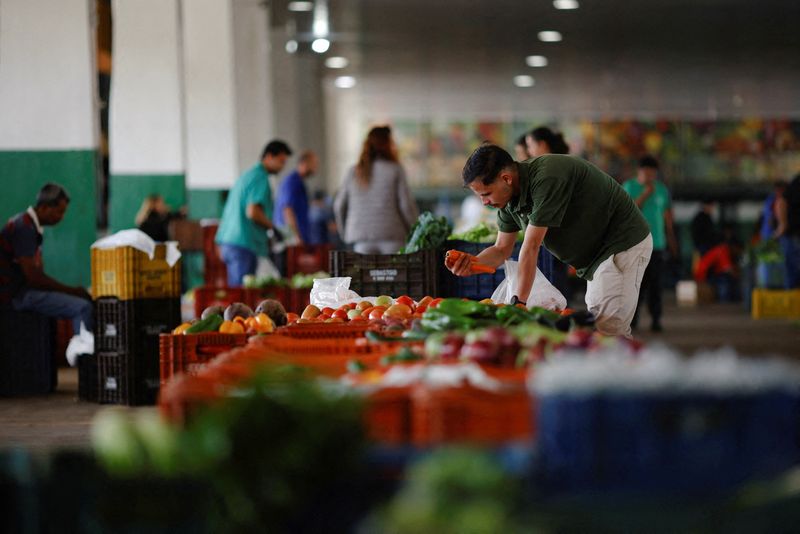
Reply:
[[[247,334],[161,334],[161,383],[178,373],[196,374],[207,362],[233,347],[245,345]]]

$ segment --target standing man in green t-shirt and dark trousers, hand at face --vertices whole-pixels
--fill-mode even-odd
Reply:
[[[666,248],[675,255],[678,251],[675,232],[672,225],[672,202],[667,186],[658,180],[658,161],[652,156],[645,156],[639,160],[639,169],[636,178],[627,180],[622,188],[631,196],[633,201],[642,210],[642,215],[650,226],[653,234],[653,254],[650,263],[642,278],[642,289],[639,292],[639,303],[633,315],[631,327],[636,328],[639,322],[639,310],[645,294],[647,295],[647,308],[650,311],[650,329],[661,332],[661,290],[663,286],[662,272],[666,260]]]

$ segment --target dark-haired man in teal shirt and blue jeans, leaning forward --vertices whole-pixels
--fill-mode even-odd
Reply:
[[[228,285],[239,287],[246,274],[256,272],[259,256],[267,256],[267,231],[272,224],[272,189],[269,175],[278,174],[292,155],[283,141],[270,141],[261,161],[234,184],[225,201],[215,238],[228,271]]]

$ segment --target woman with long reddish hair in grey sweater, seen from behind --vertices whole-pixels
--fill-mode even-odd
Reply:
[[[417,205],[388,126],[370,130],[336,195],[334,212],[344,242],[360,254],[395,254],[405,243]]]

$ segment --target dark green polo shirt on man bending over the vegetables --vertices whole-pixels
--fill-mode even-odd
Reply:
[[[520,194],[497,212],[500,231],[546,226],[545,246],[581,278],[650,232],[631,197],[591,163],[547,154],[517,165]]]

